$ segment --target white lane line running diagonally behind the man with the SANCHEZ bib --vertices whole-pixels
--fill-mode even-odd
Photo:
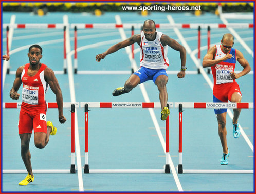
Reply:
[[[173,20],[173,18],[172,18],[170,15],[168,15],[167,18],[168,18],[168,20],[169,20],[169,22],[170,22],[171,24],[174,24],[174,20]],[[183,44],[183,42],[185,43],[185,46],[186,46],[185,48],[186,48],[186,49],[188,48],[188,51],[189,51],[188,53],[190,54],[190,57],[191,57],[192,60],[194,61],[194,63],[195,63],[195,65],[197,66],[197,68],[200,69],[201,74],[204,76],[205,80],[207,81],[207,83],[209,84],[209,86],[211,87],[211,89],[213,90],[213,83],[212,83],[212,81],[210,80],[209,76],[206,74],[206,72],[205,72],[204,68],[202,67],[202,65],[199,63],[199,61],[198,61],[198,60],[196,59],[196,57],[195,57],[195,54],[198,52],[198,49],[196,49],[197,52],[196,52],[196,50],[194,50],[193,52],[191,52],[191,49],[189,48],[189,46],[188,46],[186,40],[184,39],[184,37],[181,35],[179,29],[174,28],[174,31],[175,31],[175,33],[177,33],[177,36],[179,37],[179,39],[180,39],[180,41],[182,42],[182,44]],[[232,120],[232,119],[233,119],[233,114],[232,114],[232,112],[230,111],[230,109],[228,109],[227,112],[228,112],[229,117],[230,117],[231,120]],[[253,147],[252,143],[250,142],[248,136],[247,136],[246,133],[244,132],[242,126],[241,126],[240,124],[239,124],[239,126],[240,126],[240,131],[241,131],[241,134],[242,134],[243,138],[245,139],[246,143],[248,144],[248,146],[251,148],[251,150],[252,150],[252,152],[253,152],[254,147]]]

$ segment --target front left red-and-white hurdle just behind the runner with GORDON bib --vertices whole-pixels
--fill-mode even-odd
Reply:
[[[21,108],[21,102],[3,102],[3,109],[19,109]],[[57,103],[46,103],[49,109],[58,108]],[[33,169],[33,173],[76,173],[75,165],[75,107],[79,107],[79,103],[64,102],[63,108],[70,108],[71,112],[71,164],[70,169]],[[3,169],[2,173],[27,173],[27,170],[19,169]]]

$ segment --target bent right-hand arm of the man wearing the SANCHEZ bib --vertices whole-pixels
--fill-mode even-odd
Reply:
[[[251,71],[251,67],[249,62],[244,58],[244,55],[239,51],[239,50],[235,50],[236,51],[236,59],[239,62],[239,64],[241,64],[241,66],[244,68],[243,71],[239,72],[239,73],[234,73],[234,72],[230,72],[231,73],[231,77],[232,79],[237,79],[241,76],[246,75],[247,73],[249,73]]]

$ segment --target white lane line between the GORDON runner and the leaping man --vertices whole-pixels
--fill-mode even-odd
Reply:
[[[70,99],[71,103],[76,102],[75,96],[75,84],[72,71],[72,59],[70,55],[70,35],[69,35],[69,25],[68,25],[68,16],[63,16],[63,23],[66,24],[66,52],[67,52],[67,72],[69,80],[69,90],[70,90]],[[75,109],[75,146],[77,154],[77,174],[78,174],[78,184],[79,191],[84,191],[83,186],[83,176],[82,176],[82,163],[81,163],[81,153],[80,153],[80,143],[79,143],[79,132],[78,132],[78,118],[77,118],[77,108]]]

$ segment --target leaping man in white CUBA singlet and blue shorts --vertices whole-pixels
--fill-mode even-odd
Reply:
[[[118,96],[130,92],[138,84],[148,80],[153,80],[159,90],[159,99],[161,103],[161,120],[166,120],[170,111],[167,108],[168,94],[166,84],[168,75],[166,69],[169,66],[167,58],[168,46],[179,51],[181,60],[181,70],[178,72],[178,78],[185,77],[186,68],[186,49],[181,46],[176,40],[169,36],[156,31],[156,25],[153,20],[146,20],[143,24],[141,34],[136,34],[130,38],[119,42],[110,47],[102,54],[96,55],[96,60],[99,62],[106,55],[114,53],[121,48],[130,46],[137,42],[140,47],[140,68],[132,74],[125,82],[124,87],[117,88],[113,92],[113,96]]]

